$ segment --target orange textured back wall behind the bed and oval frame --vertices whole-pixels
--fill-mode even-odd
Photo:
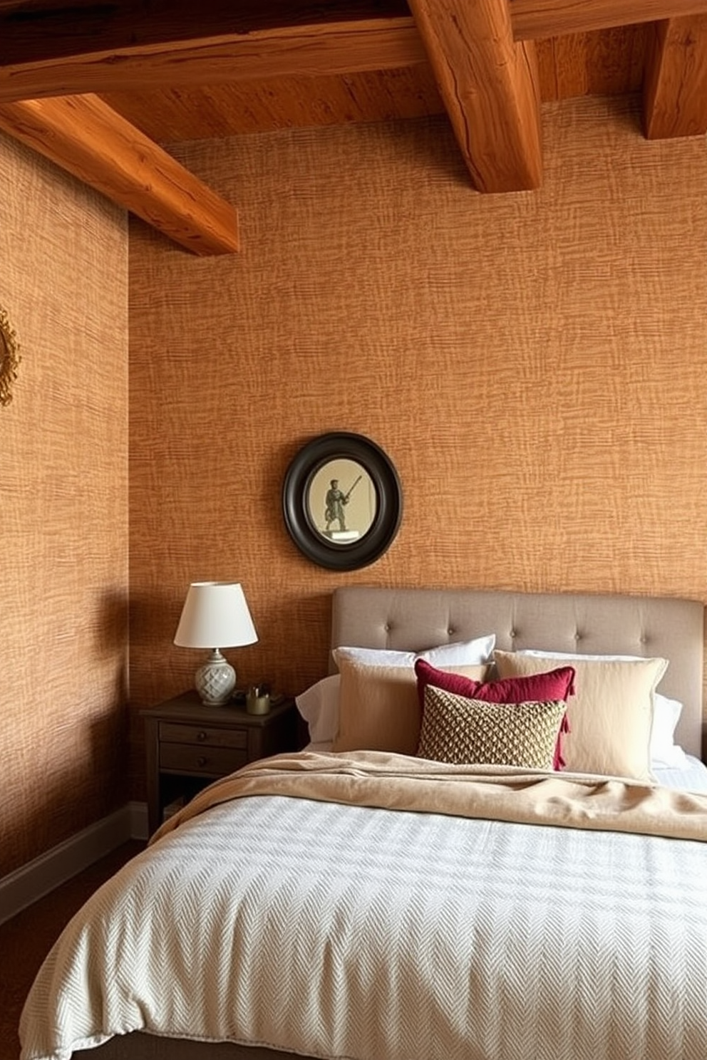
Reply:
[[[325,671],[344,582],[707,599],[707,154],[632,102],[544,108],[542,191],[482,197],[442,119],[179,145],[243,252],[130,235],[135,708],[190,686],[190,581],[244,584],[243,681]],[[323,570],[280,490],[323,431],[400,472],[399,537]],[[141,726],[134,728],[136,795]]]

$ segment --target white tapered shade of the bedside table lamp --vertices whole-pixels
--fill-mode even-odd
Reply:
[[[255,626],[237,582],[192,582],[174,635],[179,648],[254,644]]]

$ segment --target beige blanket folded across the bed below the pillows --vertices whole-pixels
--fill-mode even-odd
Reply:
[[[212,806],[247,795],[707,838],[707,795],[618,777],[450,765],[384,752],[299,752],[253,762],[211,784],[165,822],[152,842]]]

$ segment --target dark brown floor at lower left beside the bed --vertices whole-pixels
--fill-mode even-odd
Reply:
[[[137,841],[124,844],[0,924],[0,1060],[19,1058],[17,1025],[24,999],[64,925],[96,887],[143,848]]]

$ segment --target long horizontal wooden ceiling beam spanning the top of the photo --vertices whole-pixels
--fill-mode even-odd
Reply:
[[[707,14],[707,0],[507,0],[515,40]],[[266,10],[263,10],[265,6]],[[425,60],[405,0],[0,0],[0,100]]]

